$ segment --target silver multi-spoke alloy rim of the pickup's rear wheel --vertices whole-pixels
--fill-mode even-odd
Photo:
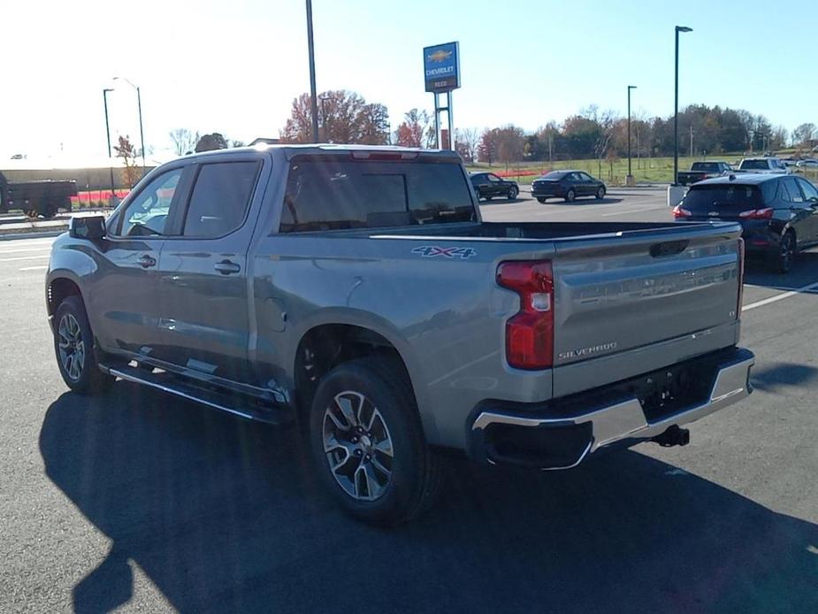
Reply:
[[[356,501],[380,498],[392,483],[389,428],[371,399],[347,390],[333,397],[323,421],[324,452],[338,485]]]

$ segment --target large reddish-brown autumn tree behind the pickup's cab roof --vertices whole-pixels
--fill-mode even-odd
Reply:
[[[312,99],[302,94],[293,100],[290,117],[279,131],[282,142],[312,142]],[[323,142],[389,142],[389,113],[383,104],[368,104],[346,89],[318,95],[318,134]]]

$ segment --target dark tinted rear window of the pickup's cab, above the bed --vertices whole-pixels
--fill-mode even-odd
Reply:
[[[474,219],[460,165],[308,159],[290,167],[279,232]]]

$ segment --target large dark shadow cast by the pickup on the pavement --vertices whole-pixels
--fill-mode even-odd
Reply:
[[[818,526],[633,451],[549,474],[453,460],[437,508],[381,530],[319,492],[297,429],[125,382],[59,397],[40,449],[113,542],[80,612],[131,599],[132,564],[183,612],[818,611]]]

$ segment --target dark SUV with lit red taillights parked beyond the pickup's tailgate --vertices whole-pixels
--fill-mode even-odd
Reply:
[[[678,220],[730,220],[744,228],[748,255],[789,272],[799,249],[818,244],[818,188],[803,177],[730,175],[694,183],[673,214]]]

